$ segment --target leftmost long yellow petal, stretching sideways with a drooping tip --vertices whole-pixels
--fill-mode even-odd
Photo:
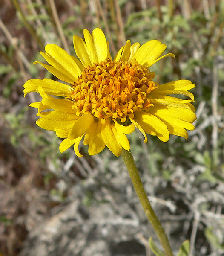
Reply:
[[[69,96],[72,93],[72,87],[70,85],[63,84],[47,78],[44,78],[43,80],[30,79],[26,81],[26,83],[23,85],[24,97],[27,93],[37,92],[39,86],[41,86],[43,90],[50,95]]]

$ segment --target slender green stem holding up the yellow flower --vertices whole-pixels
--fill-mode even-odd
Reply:
[[[142,185],[142,182],[141,182],[141,179],[140,179],[140,176],[138,173],[138,169],[135,165],[135,161],[133,159],[131,151],[122,149],[121,155],[123,157],[124,163],[127,166],[129,175],[132,180],[132,184],[135,188],[135,191],[138,195],[138,198],[141,202],[144,212],[145,212],[148,220],[150,221],[153,229],[155,230],[155,232],[158,236],[158,239],[160,240],[160,243],[164,249],[164,252],[166,253],[167,256],[173,256],[172,249],[169,245],[167,235],[166,235],[160,221],[158,220],[157,216],[155,215],[155,212],[153,211],[151,204],[149,203],[149,199],[146,195],[144,186]]]

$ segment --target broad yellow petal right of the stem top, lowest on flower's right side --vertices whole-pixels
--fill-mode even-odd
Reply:
[[[147,113],[145,111],[140,111],[135,114],[135,121],[144,129],[148,134],[156,136],[163,142],[169,140],[169,131],[167,125],[164,124],[158,117]]]

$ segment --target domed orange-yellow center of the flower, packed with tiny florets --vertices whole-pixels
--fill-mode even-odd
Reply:
[[[125,122],[135,111],[152,106],[149,93],[156,85],[154,72],[137,61],[106,59],[86,67],[72,86],[69,96],[77,115],[91,113],[101,119],[115,118]]]

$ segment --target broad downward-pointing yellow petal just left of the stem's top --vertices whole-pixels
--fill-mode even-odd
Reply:
[[[112,131],[112,125],[108,122],[106,124],[102,124],[101,127],[101,136],[103,138],[104,143],[115,154],[116,157],[121,155],[122,147],[121,144],[118,143],[116,137]]]

